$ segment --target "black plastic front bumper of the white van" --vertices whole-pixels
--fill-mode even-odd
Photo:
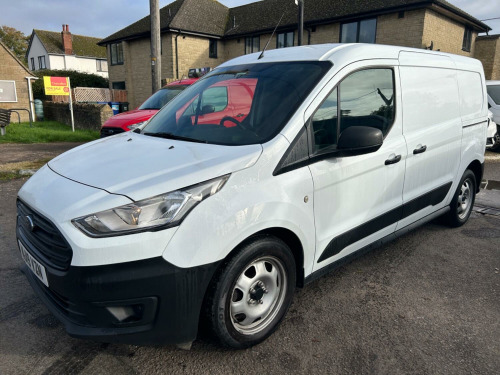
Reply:
[[[182,344],[196,338],[203,298],[217,266],[212,263],[183,269],[157,257],[105,266],[71,266],[63,272],[46,267],[49,287],[27,266],[23,271],[36,294],[73,337],[128,344]],[[116,308],[134,314],[120,321],[110,312]]]

